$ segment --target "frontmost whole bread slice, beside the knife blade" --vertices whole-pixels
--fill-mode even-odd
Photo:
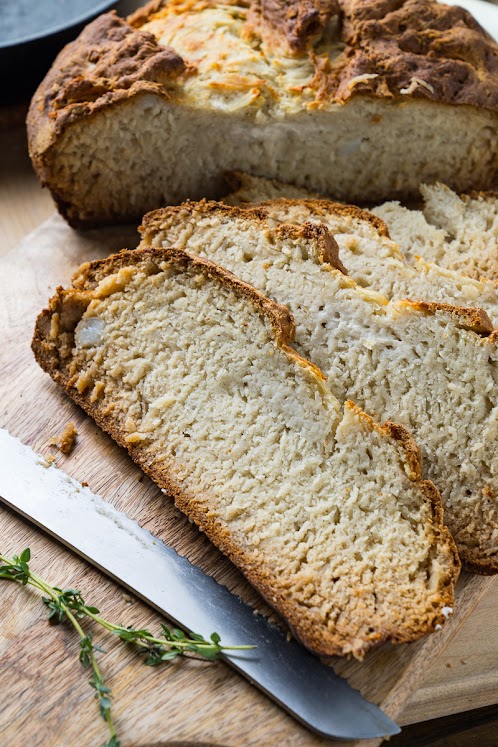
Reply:
[[[456,549],[408,432],[342,408],[292,334],[254,288],[151,249],[83,265],[33,350],[306,646],[362,656],[444,623]]]

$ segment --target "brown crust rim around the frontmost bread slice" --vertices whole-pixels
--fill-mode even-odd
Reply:
[[[330,631],[323,630],[323,625],[319,628],[317,620],[312,611],[297,609],[290,601],[288,592],[275,583],[275,578],[269,569],[261,567],[261,564],[250,553],[244,553],[234,544],[230,535],[227,533],[223,524],[211,514],[202,508],[202,500],[199,496],[191,495],[175,480],[175,471],[172,465],[165,465],[154,461],[153,455],[147,452],[147,448],[142,444],[132,444],[125,440],[125,433],[121,431],[113,420],[112,413],[108,408],[102,406],[97,400],[91,402],[90,397],[81,394],[71,385],[71,381],[64,370],[64,364],[58,354],[58,340],[51,337],[52,318],[58,314],[58,320],[64,319],[63,306],[68,300],[68,294],[75,295],[76,313],[73,311],[69,314],[66,324],[62,321],[61,329],[69,330],[71,326],[76,325],[78,316],[84,313],[93,296],[93,291],[106,274],[113,274],[122,267],[130,265],[139,265],[146,263],[173,262],[180,267],[193,267],[196,272],[207,273],[210,277],[216,278],[220,283],[231,287],[236,293],[243,294],[253,303],[260,313],[263,313],[271,322],[277,335],[277,344],[286,351],[293,360],[297,360],[301,365],[308,367],[313,375],[316,375],[316,369],[308,361],[301,358],[292,348],[289,348],[288,341],[292,335],[292,320],[290,313],[284,307],[270,301],[261,293],[251,286],[235,278],[230,273],[218,268],[211,262],[192,257],[185,252],[175,249],[138,249],[135,251],[124,251],[114,255],[107,260],[98,260],[84,265],[77,274],[77,288],[74,291],[64,291],[59,288],[56,296],[51,299],[49,308],[45,309],[38,317],[33,337],[32,348],[35,358],[40,366],[47,371],[50,376],[60,386],[62,386],[69,396],[79,404],[95,422],[122,447],[128,450],[130,456],[167,494],[171,495],[175,504],[192,519],[199,528],[227,555],[247,576],[249,581],[260,591],[265,599],[275,609],[282,614],[287,620],[289,626],[295,631],[296,636],[305,646],[324,656],[332,656],[344,653],[344,639]],[[420,471],[420,456],[416,445],[411,440],[409,434],[404,428],[385,424],[380,426],[373,420],[362,413],[353,403],[347,403],[346,407],[353,408],[357,414],[364,419],[368,428],[376,429],[379,433],[387,438],[394,438],[401,446],[401,452],[409,468],[409,476],[416,482],[419,488],[430,501],[433,507],[433,518],[431,520],[431,529],[433,532],[434,547],[445,545],[453,558],[453,564],[448,568],[443,577],[439,590],[439,603],[442,606],[453,606],[454,601],[454,584],[459,572],[459,561],[456,554],[454,543],[441,522],[441,498],[436,488],[427,481],[422,480]],[[448,564],[449,565],[449,564]],[[418,638],[434,630],[434,625],[443,623],[444,617],[441,612],[435,612],[434,617],[430,620],[422,621],[418,617],[413,620],[400,620],[400,626],[393,626],[391,629],[380,630],[366,638],[361,645],[358,645],[354,653],[356,656],[363,656],[366,651],[374,646],[378,646],[385,641],[393,643],[405,643],[414,638]]]

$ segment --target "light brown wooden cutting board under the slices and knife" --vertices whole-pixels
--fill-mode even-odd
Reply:
[[[58,465],[69,474],[86,481],[94,492],[269,613],[240,573],[142,475],[127,454],[65,397],[32,357],[34,320],[55,287],[68,284],[82,261],[135,244],[133,229],[82,235],[53,216],[0,259],[0,427],[8,428],[45,455],[55,454]],[[76,423],[78,442],[73,453],[63,457],[48,446],[48,441],[70,420]],[[37,556],[48,555],[51,560],[44,565],[45,576],[57,585],[81,587],[104,616],[123,624],[158,627],[157,615],[145,605],[127,603],[119,587],[103,581],[100,574],[62,551],[53,540],[33,534],[25,522],[8,511],[1,531],[2,552],[17,552],[27,542],[34,542],[34,566]],[[442,631],[412,645],[384,646],[363,663],[336,660],[334,668],[391,717],[398,718],[430,663],[490,584],[489,578],[464,574],[455,614]],[[0,615],[0,687],[5,692],[8,683],[10,693],[9,698],[2,698],[0,743],[50,747],[102,743],[105,730],[98,717],[93,718],[95,703],[84,684],[88,678],[79,670],[77,642],[70,631],[43,625],[39,621],[43,609],[36,593],[26,589],[6,590],[2,586]],[[158,672],[142,667],[119,642],[112,641],[105,647],[113,653],[102,655],[101,665],[114,689],[116,722],[125,735],[123,745],[327,743],[224,664],[181,661]],[[361,747],[379,743],[364,741]]]

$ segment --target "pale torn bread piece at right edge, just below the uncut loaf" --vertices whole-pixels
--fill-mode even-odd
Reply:
[[[443,184],[423,184],[422,210],[386,202],[372,212],[389,225],[407,259],[421,254],[477,280],[498,280],[498,196],[458,196]]]

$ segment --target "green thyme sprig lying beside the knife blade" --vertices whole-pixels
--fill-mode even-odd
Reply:
[[[191,656],[192,654],[214,660],[222,651],[243,651],[254,648],[253,646],[223,646],[218,633],[213,633],[209,640],[198,633],[190,633],[189,637],[183,630],[169,628],[164,623],[161,623],[161,633],[158,636],[154,636],[144,628],[116,625],[101,617],[97,607],[87,605],[78,589],[61,589],[58,586],[51,586],[33,573],[28,565],[30,560],[29,548],[23,550],[20,555],[14,555],[11,559],[0,554],[0,562],[4,563],[0,566],[0,578],[15,581],[22,586],[33,586],[42,591],[46,595],[42,597],[42,601],[49,609],[48,622],[51,625],[69,622],[78,633],[80,637],[79,659],[85,669],[92,670],[92,679],[89,684],[95,690],[100,715],[109,729],[109,739],[104,747],[120,747],[120,742],[111,715],[111,689],[105,684],[95,658],[97,652],[105,652],[94,643],[93,633],[84,631],[80,624],[83,618],[93,620],[122,641],[136,646],[137,650],[144,655],[144,663],[147,666],[158,666],[178,656]]]

